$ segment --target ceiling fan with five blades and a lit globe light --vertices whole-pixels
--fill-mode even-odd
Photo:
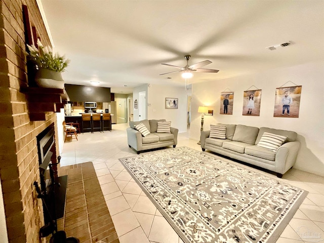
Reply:
[[[190,77],[192,77],[192,72],[218,72],[219,71],[219,70],[216,70],[216,69],[200,68],[200,67],[203,67],[203,66],[206,66],[206,65],[212,63],[209,60],[198,62],[196,64],[193,64],[193,65],[189,66],[188,61],[189,61],[190,57],[191,57],[190,55],[185,55],[184,56],[184,58],[187,60],[187,65],[184,66],[184,67],[178,67],[178,66],[171,65],[171,64],[161,63],[162,65],[176,67],[176,68],[179,68],[180,70],[173,71],[173,72],[166,72],[166,73],[162,73],[160,75],[164,75],[164,74],[168,74],[168,73],[174,73],[174,72],[183,72],[182,77],[190,78]]]

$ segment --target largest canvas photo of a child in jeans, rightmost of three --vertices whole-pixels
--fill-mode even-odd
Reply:
[[[275,90],[274,117],[299,117],[302,86],[277,88]]]

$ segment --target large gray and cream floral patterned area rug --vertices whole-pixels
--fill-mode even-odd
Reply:
[[[275,242],[307,195],[187,147],[119,160],[184,242]]]

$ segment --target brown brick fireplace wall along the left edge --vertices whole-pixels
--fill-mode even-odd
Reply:
[[[50,45],[36,0],[0,2],[0,179],[8,239],[19,243],[42,241],[38,231],[44,225],[43,207],[33,187],[39,182],[36,135],[53,122],[57,131],[53,112],[46,114],[46,121],[29,120],[26,97],[19,92],[28,82],[22,5],[28,7],[42,43]]]

